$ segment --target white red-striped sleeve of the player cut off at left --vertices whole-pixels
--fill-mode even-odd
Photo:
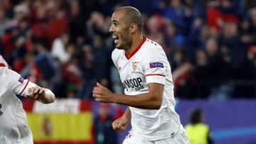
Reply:
[[[28,79],[23,79],[20,74],[13,70],[6,70],[4,72],[7,87],[11,89],[14,94],[21,94],[26,96],[28,94],[29,87],[36,87],[36,84],[29,82]]]

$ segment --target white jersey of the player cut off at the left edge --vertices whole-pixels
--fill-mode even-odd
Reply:
[[[23,79],[20,74],[9,70],[0,55],[0,143],[32,144],[26,112],[15,94],[25,96],[28,87],[36,84]]]

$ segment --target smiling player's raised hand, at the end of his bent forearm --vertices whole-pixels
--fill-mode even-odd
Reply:
[[[100,102],[113,102],[113,95],[114,93],[111,92],[106,87],[102,86],[100,83],[97,82],[97,86],[94,87],[92,91],[92,96],[95,97],[95,101]]]

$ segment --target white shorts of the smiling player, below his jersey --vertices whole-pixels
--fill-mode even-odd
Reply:
[[[136,135],[128,134],[122,144],[189,144],[188,136],[186,131],[181,125],[180,131],[176,135],[170,138],[164,138],[161,140],[142,140],[142,138]]]

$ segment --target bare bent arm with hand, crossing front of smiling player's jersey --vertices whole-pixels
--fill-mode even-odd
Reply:
[[[114,94],[106,87],[97,83],[93,89],[92,96],[96,101],[109,102],[117,104],[125,104],[141,109],[160,109],[162,96],[164,92],[164,85],[158,83],[149,83],[149,92],[146,94],[137,94],[129,96],[126,94]]]

